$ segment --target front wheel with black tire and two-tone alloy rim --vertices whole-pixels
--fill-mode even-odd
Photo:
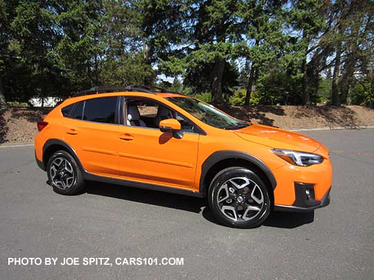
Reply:
[[[223,201],[219,203],[220,200]],[[245,167],[218,172],[208,189],[208,204],[215,218],[229,227],[257,227],[271,211],[271,198],[264,181]]]

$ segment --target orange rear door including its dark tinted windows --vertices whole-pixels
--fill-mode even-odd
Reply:
[[[97,97],[78,102],[66,118],[65,142],[75,149],[82,166],[92,174],[118,174],[118,100]]]

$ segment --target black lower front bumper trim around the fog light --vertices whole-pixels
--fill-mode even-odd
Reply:
[[[321,200],[314,199],[314,186],[312,184],[295,183],[296,200],[293,205],[274,205],[275,211],[282,212],[310,212],[314,209],[325,207],[330,204],[330,190]],[[308,192],[308,195],[307,195]]]

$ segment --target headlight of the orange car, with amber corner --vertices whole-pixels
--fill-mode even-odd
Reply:
[[[292,165],[310,166],[323,162],[323,158],[315,153],[305,153],[303,151],[290,151],[282,149],[272,149],[271,153],[290,162]]]

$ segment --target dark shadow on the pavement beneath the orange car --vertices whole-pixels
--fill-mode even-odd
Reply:
[[[108,196],[123,200],[130,200],[138,203],[159,205],[173,209],[180,209],[194,213],[202,212],[202,216],[211,223],[222,225],[220,221],[213,216],[208,202],[205,198],[196,198],[192,196],[183,196],[180,194],[170,194],[167,192],[157,192],[149,189],[138,189],[135,187],[123,187],[98,182],[87,182],[86,193],[99,196]],[[290,212],[271,212],[262,226],[280,227],[292,229],[300,227],[314,221],[314,212],[309,213],[290,213]]]

